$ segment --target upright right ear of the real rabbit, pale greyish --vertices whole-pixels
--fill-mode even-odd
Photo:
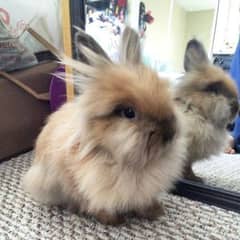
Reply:
[[[140,37],[128,26],[123,31],[119,55],[120,62],[124,64],[136,65],[142,62]]]

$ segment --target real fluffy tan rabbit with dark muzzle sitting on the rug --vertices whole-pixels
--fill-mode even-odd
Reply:
[[[128,34],[125,44],[134,44]],[[104,224],[129,212],[154,219],[163,214],[158,194],[181,174],[181,113],[168,83],[135,56],[114,64],[80,48],[91,65],[63,62],[77,70],[83,94],[49,117],[23,187],[37,201],[76,207]]]

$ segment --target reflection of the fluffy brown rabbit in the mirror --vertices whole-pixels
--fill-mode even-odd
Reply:
[[[238,112],[237,88],[222,69],[210,63],[196,39],[187,44],[184,67],[186,74],[177,86],[176,100],[188,129],[185,177],[201,181],[194,175],[192,163],[223,152],[227,125]]]

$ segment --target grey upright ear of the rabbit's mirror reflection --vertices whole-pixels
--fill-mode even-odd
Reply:
[[[186,72],[199,70],[205,64],[208,64],[208,56],[202,45],[196,39],[192,39],[187,43],[184,55],[184,69]]]

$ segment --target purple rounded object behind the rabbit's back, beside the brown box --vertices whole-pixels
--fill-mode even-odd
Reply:
[[[65,73],[64,66],[58,67],[56,73]],[[66,83],[59,77],[53,76],[50,83],[49,93],[51,111],[54,112],[67,100]]]

